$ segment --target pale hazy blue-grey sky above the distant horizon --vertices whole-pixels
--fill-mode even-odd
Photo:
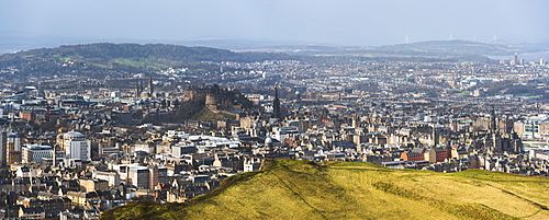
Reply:
[[[549,1],[0,0],[0,36],[334,45],[549,42]]]

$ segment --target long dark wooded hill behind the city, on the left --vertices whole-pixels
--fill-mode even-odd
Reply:
[[[4,54],[0,56],[0,68],[14,67],[21,74],[63,74],[93,70],[139,72],[201,61],[255,62],[291,58],[285,54],[234,53],[210,47],[100,43]]]

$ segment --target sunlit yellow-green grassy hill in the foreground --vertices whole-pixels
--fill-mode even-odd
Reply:
[[[547,219],[549,178],[371,163],[269,161],[189,204],[131,202],[102,219]]]

